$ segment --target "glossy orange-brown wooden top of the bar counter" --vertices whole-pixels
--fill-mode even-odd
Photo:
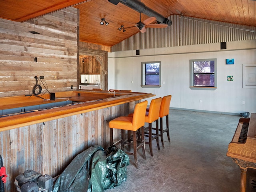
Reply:
[[[0,98],[0,110],[68,100],[72,101],[72,103],[64,106],[56,106],[52,108],[44,108],[0,116],[0,132],[76,114],[82,114],[132,101],[142,100],[153,96],[155,95],[151,93],[116,92],[114,94],[114,92],[109,93],[108,91],[81,90],[56,92],[55,100],[50,100],[50,94],[44,94],[40,97],[33,95],[4,97]]]

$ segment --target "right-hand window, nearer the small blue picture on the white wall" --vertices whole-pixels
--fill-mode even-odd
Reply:
[[[215,90],[217,87],[217,60],[190,60],[190,88]]]

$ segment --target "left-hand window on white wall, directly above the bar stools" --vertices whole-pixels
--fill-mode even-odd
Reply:
[[[160,87],[160,61],[141,62],[141,86],[142,87]]]

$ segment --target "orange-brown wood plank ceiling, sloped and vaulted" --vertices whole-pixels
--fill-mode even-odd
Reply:
[[[255,0],[142,0],[164,17],[173,14],[256,27]],[[43,14],[74,6],[80,11],[80,41],[113,46],[140,32],[132,27],[140,14],[128,6],[108,0],[0,0],[0,18],[22,22]],[[105,18],[108,26],[100,25]],[[148,16],[141,14],[141,20]],[[123,25],[126,29],[119,31]],[[128,28],[131,27],[131,28]],[[169,26],[172,27],[172,26]]]

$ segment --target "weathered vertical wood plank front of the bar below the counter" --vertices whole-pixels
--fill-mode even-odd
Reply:
[[[0,154],[8,175],[5,191],[16,192],[15,177],[25,170],[55,177],[90,146],[109,147],[108,122],[133,112],[138,102],[0,132]],[[120,130],[114,130],[114,138],[121,138]]]

